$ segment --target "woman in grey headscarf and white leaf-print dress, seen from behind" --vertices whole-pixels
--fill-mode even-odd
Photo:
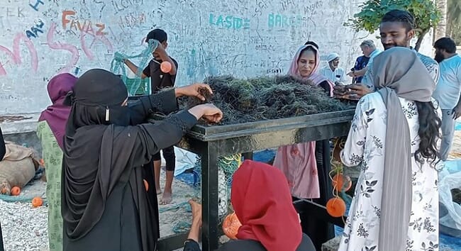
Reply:
[[[380,90],[362,97],[357,104],[340,156],[348,167],[360,164],[361,173],[339,250],[438,250],[435,164],[440,119],[431,102],[435,83],[416,53],[406,48],[392,48],[377,56],[372,76],[375,87],[389,91],[387,94],[394,95],[394,102],[389,102],[389,96]],[[406,131],[409,137],[396,136],[399,130]],[[389,172],[392,166],[386,162],[394,157],[403,157],[404,161],[395,162],[395,169]],[[406,160],[408,179],[394,187],[387,186],[386,182],[406,175],[402,164]],[[405,185],[408,191],[399,190]],[[405,196],[406,207],[404,203],[393,202]],[[384,207],[390,217],[387,222],[383,219]],[[408,211],[406,218],[405,211]],[[406,220],[394,221],[394,215]],[[384,228],[386,223],[391,227]],[[402,234],[398,234],[399,230]]]

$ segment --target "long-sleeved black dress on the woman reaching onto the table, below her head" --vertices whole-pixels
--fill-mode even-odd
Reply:
[[[130,107],[130,123],[145,121],[150,111],[175,110],[174,91],[143,97]],[[64,250],[156,250],[158,208],[148,163],[196,122],[182,111],[155,124],[78,128],[63,160]],[[143,179],[150,184],[148,192]]]

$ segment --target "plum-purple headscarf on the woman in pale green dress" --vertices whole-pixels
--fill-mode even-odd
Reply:
[[[47,121],[52,133],[55,135],[57,144],[63,149],[62,140],[64,140],[67,118],[70,113],[70,106],[62,104],[67,93],[72,91],[77,77],[72,74],[63,73],[52,77],[48,82],[48,95],[52,105],[42,111],[38,121]]]

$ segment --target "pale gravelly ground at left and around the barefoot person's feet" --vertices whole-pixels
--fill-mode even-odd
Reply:
[[[162,171],[160,183],[165,183],[165,172]],[[24,187],[21,196],[31,198],[45,195],[46,183],[35,180]],[[175,225],[183,226],[191,221],[191,213],[187,201],[196,194],[190,186],[174,180],[173,201],[169,205],[159,205],[160,234],[167,236],[174,234]],[[160,200],[161,194],[159,195]],[[5,202],[0,200],[0,222],[4,235],[6,251],[47,251],[47,206],[32,208],[30,201]],[[187,228],[182,228],[187,230]]]

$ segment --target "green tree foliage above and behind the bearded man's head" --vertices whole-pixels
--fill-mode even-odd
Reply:
[[[359,6],[360,12],[344,23],[355,31],[374,33],[387,11],[401,9],[409,11],[415,18],[416,37],[422,37],[440,21],[441,13],[433,0],[368,0]]]

